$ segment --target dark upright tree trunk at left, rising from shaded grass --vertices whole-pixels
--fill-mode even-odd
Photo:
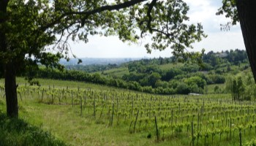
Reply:
[[[7,21],[7,4],[9,0],[0,0],[0,25]],[[9,48],[10,49],[10,48]],[[0,30],[0,51],[7,52],[6,30]],[[15,79],[15,64],[7,58],[1,58],[1,64],[4,66],[4,87],[7,102],[7,115],[9,117],[18,117],[18,99]]]

